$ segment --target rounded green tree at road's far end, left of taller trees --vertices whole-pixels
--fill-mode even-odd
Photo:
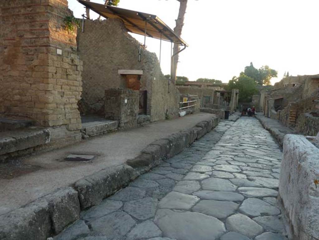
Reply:
[[[226,86],[227,90],[239,89],[238,101],[241,103],[249,103],[252,96],[258,92],[256,81],[241,72],[239,77],[233,77]]]

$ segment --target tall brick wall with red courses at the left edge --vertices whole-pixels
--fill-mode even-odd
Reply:
[[[76,33],[64,28],[68,2],[0,0],[0,11],[0,113],[79,129],[82,66]]]

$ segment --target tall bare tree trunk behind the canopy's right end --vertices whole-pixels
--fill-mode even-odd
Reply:
[[[178,35],[181,36],[182,34],[182,28],[184,25],[184,16],[186,13],[186,6],[187,6],[187,0],[177,0],[180,2],[180,8],[178,12],[178,18],[175,20],[176,21],[176,27],[174,27],[174,32]],[[173,48],[173,54],[178,52],[180,50],[179,44],[174,43],[174,48]],[[178,54],[174,56],[173,59],[173,69],[172,69],[172,81],[175,84],[176,80],[176,71],[177,71],[177,64],[178,64]]]

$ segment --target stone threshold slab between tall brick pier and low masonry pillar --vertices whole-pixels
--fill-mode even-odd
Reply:
[[[92,137],[105,134],[118,129],[119,121],[100,119],[95,121],[83,122],[81,132],[83,137]]]

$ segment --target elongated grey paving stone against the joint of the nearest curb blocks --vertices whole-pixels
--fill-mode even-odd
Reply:
[[[121,201],[104,200],[99,205],[81,213],[81,217],[87,221],[103,217],[108,213],[115,212],[123,206]]]

